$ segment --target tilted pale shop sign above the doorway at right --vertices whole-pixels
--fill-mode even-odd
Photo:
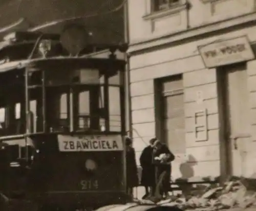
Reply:
[[[206,67],[217,67],[254,59],[246,36],[198,46]]]

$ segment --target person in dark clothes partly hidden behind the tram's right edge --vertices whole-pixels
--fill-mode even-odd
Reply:
[[[132,195],[133,188],[138,187],[138,171],[135,157],[135,150],[132,147],[132,139],[129,137],[125,138],[126,147],[126,184],[127,193]]]

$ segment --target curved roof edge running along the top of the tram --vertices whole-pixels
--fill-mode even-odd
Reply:
[[[11,61],[6,62],[4,64],[0,64],[0,73],[12,71],[15,69],[23,69],[29,67],[31,65],[47,65],[49,63],[56,62],[74,62],[79,64],[87,65],[88,68],[100,68],[107,67],[109,65],[113,65],[113,60],[109,58],[88,58],[88,57],[53,57],[53,58],[36,58],[30,60],[19,60],[19,61]],[[123,66],[125,64],[124,60],[115,59],[114,60],[116,66]],[[33,68],[31,71],[35,71]]]

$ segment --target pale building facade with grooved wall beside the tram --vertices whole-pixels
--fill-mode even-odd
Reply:
[[[129,0],[137,161],[157,137],[173,177],[256,173],[256,1]]]

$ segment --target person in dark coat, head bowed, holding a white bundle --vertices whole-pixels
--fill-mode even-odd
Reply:
[[[154,143],[153,163],[156,167],[156,195],[167,196],[170,188],[170,176],[172,173],[171,162],[175,160],[174,154],[159,140]]]

